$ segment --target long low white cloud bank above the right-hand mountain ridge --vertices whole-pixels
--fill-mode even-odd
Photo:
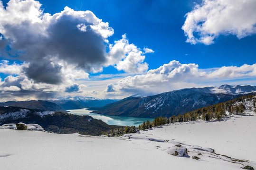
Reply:
[[[127,76],[115,85],[107,85],[106,92],[116,93],[162,93],[181,88],[200,87],[241,78],[255,78],[256,64],[241,67],[230,66],[214,69],[199,69],[199,66],[171,61],[147,74]],[[110,89],[110,91],[108,90]]]

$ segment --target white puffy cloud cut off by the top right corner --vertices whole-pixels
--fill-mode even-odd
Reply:
[[[186,14],[187,42],[214,43],[219,35],[243,38],[256,34],[256,0],[203,0]]]

